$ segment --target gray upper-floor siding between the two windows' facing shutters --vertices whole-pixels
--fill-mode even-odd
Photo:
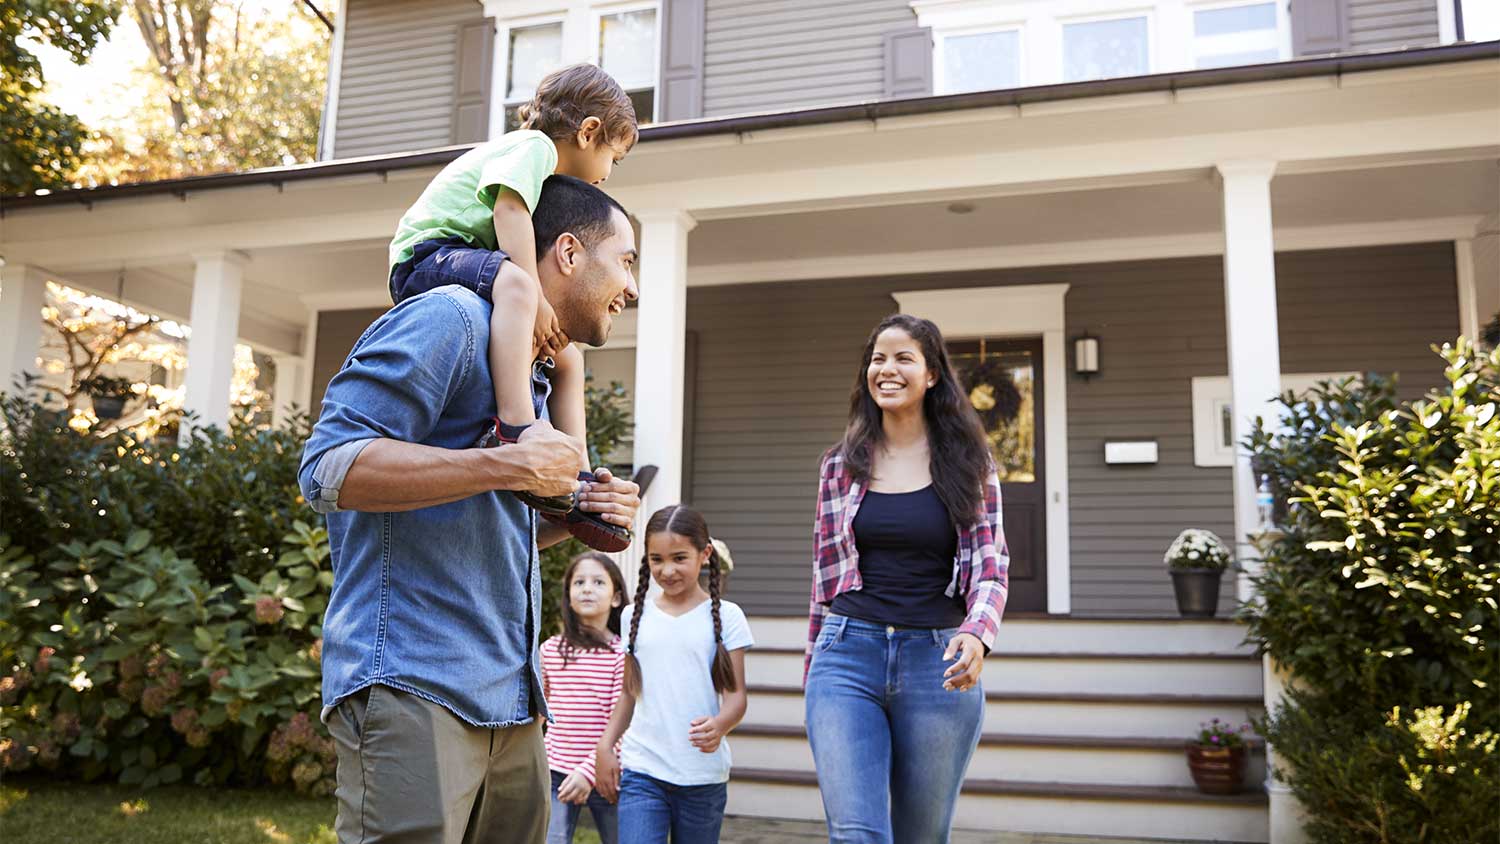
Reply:
[[[885,94],[885,36],[916,30],[908,0],[708,0],[704,115]]]

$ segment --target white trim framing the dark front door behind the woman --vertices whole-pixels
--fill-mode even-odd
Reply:
[[[1068,285],[1014,285],[892,292],[903,313],[932,319],[950,340],[1035,337],[1042,342],[1042,436],[1047,465],[1047,612],[1072,612],[1068,547]]]

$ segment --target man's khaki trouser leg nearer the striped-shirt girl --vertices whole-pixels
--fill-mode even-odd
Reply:
[[[542,720],[489,735],[489,771],[464,844],[543,844],[552,772],[542,745]]]

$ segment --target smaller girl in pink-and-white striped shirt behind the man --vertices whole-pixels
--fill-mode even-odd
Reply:
[[[554,724],[546,733],[552,769],[548,844],[572,844],[584,807],[602,844],[615,844],[615,805],[594,790],[598,738],[624,685],[620,610],[626,582],[608,556],[588,552],[562,574],[562,633],[542,643],[542,685]]]

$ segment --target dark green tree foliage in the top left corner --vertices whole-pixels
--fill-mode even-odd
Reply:
[[[42,102],[42,61],[21,39],[82,64],[118,16],[116,0],[0,0],[0,193],[68,187],[90,135]]]

